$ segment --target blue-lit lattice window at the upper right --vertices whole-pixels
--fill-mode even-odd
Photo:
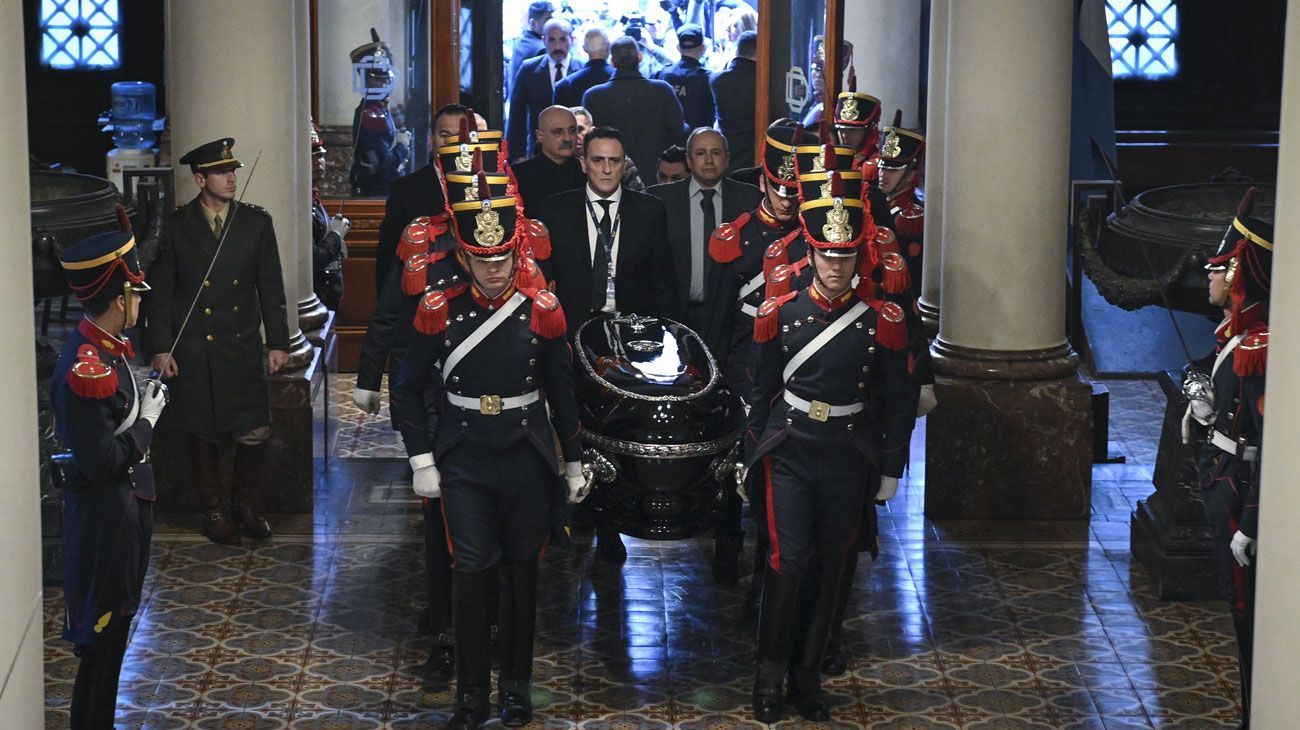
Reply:
[[[1178,75],[1178,8],[1174,0],[1106,0],[1114,78]]]

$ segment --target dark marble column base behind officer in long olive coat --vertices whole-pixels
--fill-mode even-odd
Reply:
[[[326,374],[321,351],[308,344],[307,368],[282,370],[270,377],[270,442],[254,509],[266,513],[311,513],[315,486],[312,392]],[[170,427],[166,412],[153,435],[152,461],[159,485],[153,504],[159,513],[196,513],[199,494],[190,462],[186,435]],[[222,462],[230,478],[229,457]]]

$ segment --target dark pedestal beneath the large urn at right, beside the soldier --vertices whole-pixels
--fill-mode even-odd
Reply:
[[[1132,512],[1130,549],[1150,574],[1161,600],[1217,599],[1210,533],[1196,479],[1196,444],[1182,439],[1187,409],[1182,378],[1164,371],[1158,379],[1166,407],[1152,478],[1156,494],[1139,500]]]

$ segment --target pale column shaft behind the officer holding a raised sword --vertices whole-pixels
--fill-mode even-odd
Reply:
[[[306,366],[312,357],[311,343],[299,326],[300,303],[312,296],[311,155],[302,131],[307,118],[298,97],[299,69],[308,66],[309,57],[296,42],[299,4],[306,5],[306,0],[173,0],[166,17],[172,162],[205,142],[235,138],[235,157],[244,164],[239,194],[246,203],[269,210],[276,222],[295,368]],[[255,173],[252,162],[259,152]],[[182,201],[198,194],[187,168],[177,169],[176,192]],[[299,271],[304,256],[299,249],[306,249],[308,262],[306,292]]]

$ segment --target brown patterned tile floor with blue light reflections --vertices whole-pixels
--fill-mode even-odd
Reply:
[[[164,520],[122,674],[118,726],[439,727],[450,688],[421,678],[429,636],[417,503],[386,418],[335,377],[333,459],[316,513],[269,546],[209,544]],[[1087,525],[933,523],[923,429],[883,551],[859,566],[849,674],[827,687],[841,727],[1235,727],[1231,623],[1216,603],[1162,603],[1128,555],[1150,494],[1153,382],[1112,381],[1112,452]],[[534,727],[754,727],[744,587],[708,577],[707,540],[628,540],[623,570],[590,538],[543,564]],[[748,582],[748,577],[744,579]],[[744,583],[742,583],[744,585]],[[77,664],[47,595],[47,727],[68,722]],[[786,720],[783,727],[806,725]]]

